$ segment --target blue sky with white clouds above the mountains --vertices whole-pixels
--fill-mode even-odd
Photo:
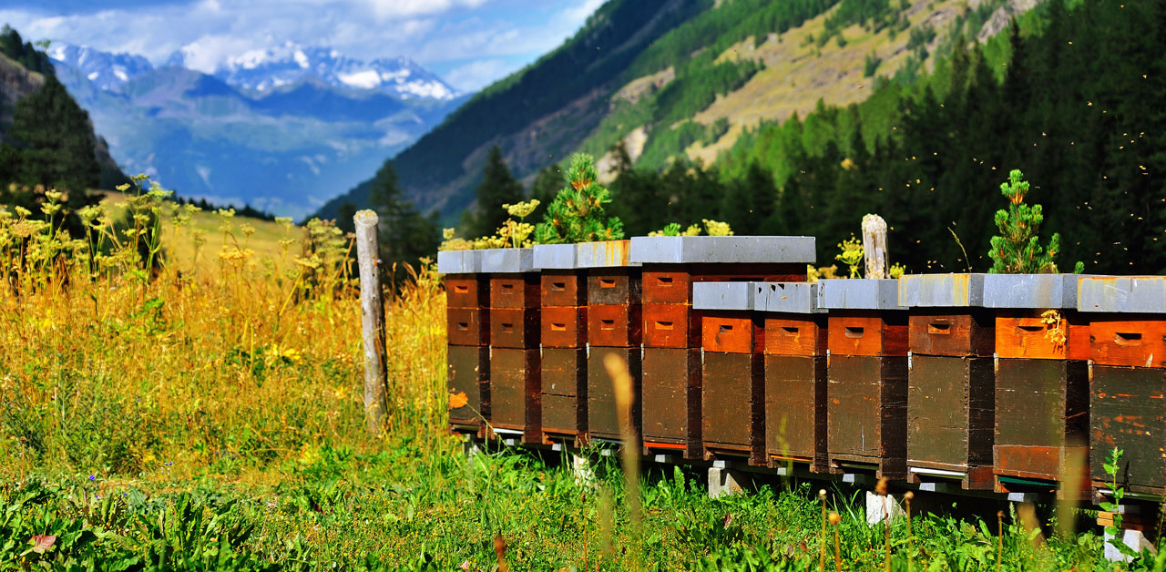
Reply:
[[[476,91],[574,34],[603,0],[3,0],[0,23],[31,41],[129,52],[159,64],[187,49],[211,72],[294,42],[350,57],[408,57]]]

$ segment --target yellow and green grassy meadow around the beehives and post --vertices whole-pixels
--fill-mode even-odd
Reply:
[[[862,496],[829,487],[841,523],[823,552],[810,483],[712,500],[700,472],[625,483],[618,456],[596,451],[593,483],[554,454],[466,457],[445,429],[430,268],[393,285],[389,417],[370,437],[335,226],[145,193],[82,213],[89,236],[70,240],[52,204],[0,211],[0,570],[760,571],[820,570],[824,555],[874,571],[887,543],[895,571],[1115,569],[1096,534],[1037,537],[1011,513],[915,514],[887,539]]]

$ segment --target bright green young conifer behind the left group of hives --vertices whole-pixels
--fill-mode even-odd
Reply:
[[[618,217],[609,217],[611,193],[596,182],[595,160],[586,154],[571,156],[567,170],[567,186],[559,191],[547,207],[542,223],[535,227],[535,240],[543,245],[619,240],[624,225]]]

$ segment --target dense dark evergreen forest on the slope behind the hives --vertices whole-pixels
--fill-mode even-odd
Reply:
[[[877,212],[908,271],[985,271],[999,185],[1020,169],[1046,234],[1063,235],[1062,269],[1166,271],[1166,2],[1048,0],[1032,21],[1006,31],[998,64],[955,49],[913,85],[763,123],[712,167],[625,158],[613,211],[630,234],[719,218],[738,234],[814,235],[820,261]]]

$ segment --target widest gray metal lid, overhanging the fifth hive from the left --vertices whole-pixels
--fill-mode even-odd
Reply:
[[[633,236],[633,262],[813,263],[814,236]]]

